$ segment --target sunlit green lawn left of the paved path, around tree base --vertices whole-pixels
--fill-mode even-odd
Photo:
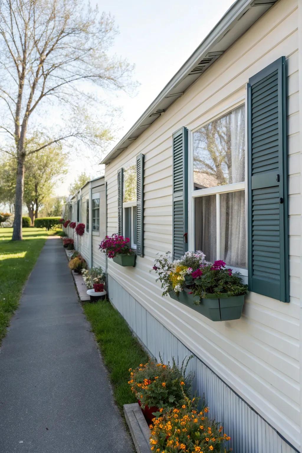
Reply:
[[[47,236],[53,231],[24,228],[23,241],[11,241],[13,229],[0,228],[0,343]]]

